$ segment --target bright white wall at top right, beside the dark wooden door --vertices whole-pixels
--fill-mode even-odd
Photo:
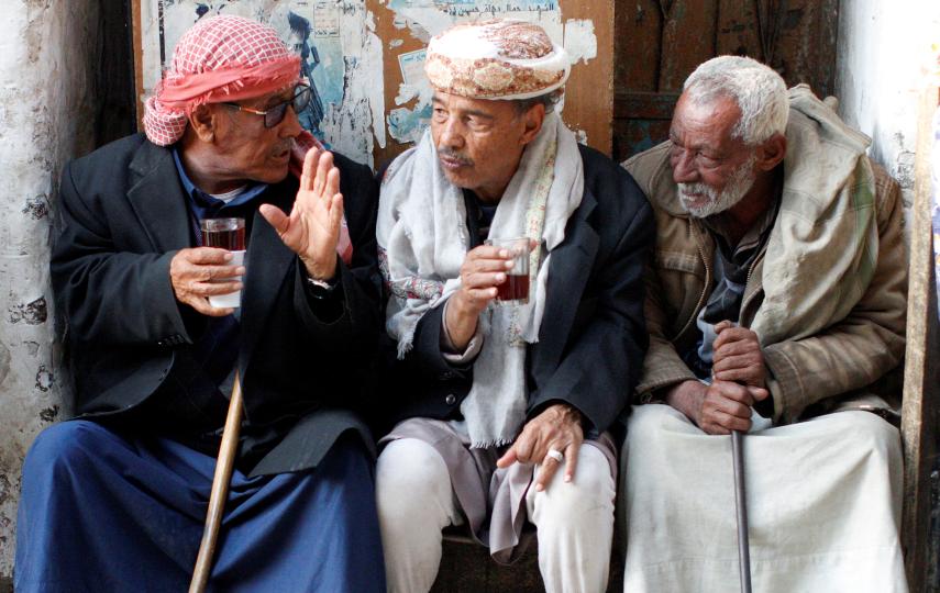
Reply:
[[[930,43],[940,43],[937,0],[841,0],[836,71],[840,113],[872,136],[872,157],[914,198],[916,96]]]

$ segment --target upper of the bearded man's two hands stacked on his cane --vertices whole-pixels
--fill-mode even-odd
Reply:
[[[712,349],[711,374],[721,381],[737,381],[766,388],[767,368],[757,334],[723,321],[715,326],[718,337]]]

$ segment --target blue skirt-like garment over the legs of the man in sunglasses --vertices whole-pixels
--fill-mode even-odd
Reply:
[[[15,590],[185,592],[215,460],[88,421],[46,428],[23,466]],[[235,470],[211,591],[384,592],[374,469],[342,438],[317,468]]]

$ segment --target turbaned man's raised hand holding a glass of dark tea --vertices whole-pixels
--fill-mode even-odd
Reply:
[[[447,333],[461,350],[476,332],[479,314],[496,299],[496,287],[506,281],[512,268],[508,249],[480,245],[471,249],[461,266],[461,288],[447,304]]]

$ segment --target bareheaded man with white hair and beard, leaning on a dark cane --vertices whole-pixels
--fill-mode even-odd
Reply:
[[[754,591],[907,590],[885,378],[907,262],[898,187],[869,144],[808,88],[722,56],[686,80],[670,139],[626,163],[657,237],[646,405],[622,455],[624,591],[738,589],[732,430],[753,435]]]

